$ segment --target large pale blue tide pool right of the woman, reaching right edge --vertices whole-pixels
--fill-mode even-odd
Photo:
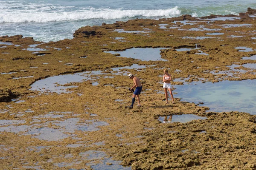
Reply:
[[[204,102],[213,112],[256,114],[256,80],[192,82],[175,85],[175,96],[186,102]]]

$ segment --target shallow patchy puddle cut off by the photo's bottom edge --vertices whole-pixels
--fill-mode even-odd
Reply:
[[[131,170],[131,167],[123,167],[120,165],[122,161],[114,161],[108,158],[105,152],[100,150],[88,150],[79,153],[79,156],[86,160],[91,160],[91,162],[86,165],[91,166],[93,170]],[[97,161],[100,162],[98,163]],[[111,164],[111,166],[108,164]]]

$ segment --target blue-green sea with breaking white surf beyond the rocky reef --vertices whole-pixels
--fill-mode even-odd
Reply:
[[[58,41],[72,39],[83,26],[183,14],[238,15],[248,7],[255,9],[255,0],[0,0],[0,36],[22,34],[38,41]]]

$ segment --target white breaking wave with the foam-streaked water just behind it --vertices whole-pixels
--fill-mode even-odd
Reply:
[[[15,8],[19,6],[20,8]],[[178,7],[169,9],[124,10],[122,8],[77,8],[35,3],[3,3],[0,1],[0,23],[54,22],[88,19],[120,19],[131,17],[172,17],[179,15]]]

